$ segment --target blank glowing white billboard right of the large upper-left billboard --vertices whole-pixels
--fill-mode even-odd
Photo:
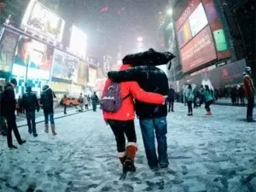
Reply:
[[[85,58],[87,47],[87,35],[76,26],[72,26],[69,50],[74,55]]]

